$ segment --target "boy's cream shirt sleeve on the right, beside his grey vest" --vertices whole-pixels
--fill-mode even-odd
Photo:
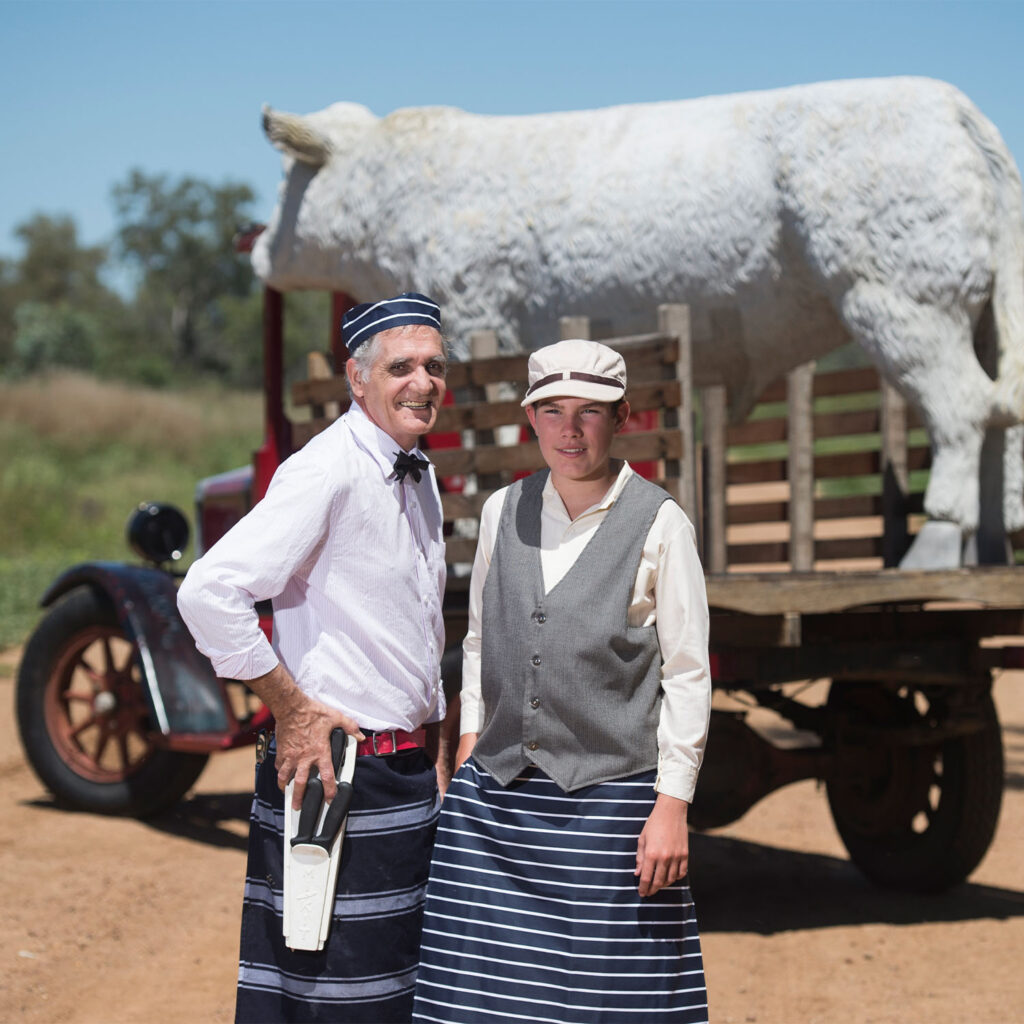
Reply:
[[[711,718],[708,594],[692,523],[678,506],[666,503],[663,508],[676,522],[664,531],[656,552],[654,601],[663,700],[654,787],[691,802]]]

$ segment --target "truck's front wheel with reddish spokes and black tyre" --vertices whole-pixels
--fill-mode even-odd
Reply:
[[[158,745],[135,645],[88,588],[55,605],[29,640],[17,720],[42,782],[82,810],[155,814],[184,796],[207,761]]]

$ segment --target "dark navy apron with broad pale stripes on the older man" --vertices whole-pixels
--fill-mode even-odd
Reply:
[[[236,1020],[409,1021],[438,797],[422,750],[355,763],[327,944],[282,935],[284,794],[273,744],[256,769]]]

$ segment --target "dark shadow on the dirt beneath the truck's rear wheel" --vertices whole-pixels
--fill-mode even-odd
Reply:
[[[701,932],[1024,918],[1024,892],[966,883],[920,895],[880,889],[848,860],[692,835],[690,878]]]

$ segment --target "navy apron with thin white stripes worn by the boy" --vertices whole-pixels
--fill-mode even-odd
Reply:
[[[565,794],[470,758],[441,808],[413,1019],[697,1024],[708,995],[686,880],[641,899],[654,772]]]

